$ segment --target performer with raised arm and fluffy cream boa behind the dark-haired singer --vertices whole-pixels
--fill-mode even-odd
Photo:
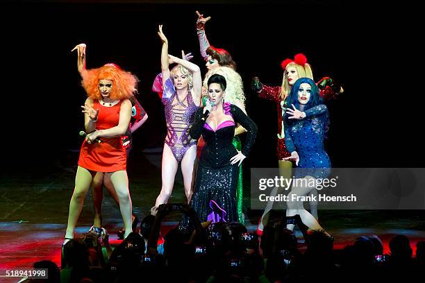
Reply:
[[[208,73],[206,74],[203,80],[203,89],[208,89],[207,82],[208,78],[213,74],[220,74],[226,78],[227,88],[226,88],[226,101],[232,103],[238,108],[240,108],[245,114],[247,114],[247,110],[245,110],[245,96],[242,78],[240,74],[235,71],[236,63],[233,61],[233,58],[228,51],[224,49],[217,49],[213,46],[210,46],[208,39],[205,33],[205,24],[208,22],[211,17],[204,18],[197,11],[198,19],[197,19],[197,35],[199,40],[199,49],[201,51],[202,58],[206,61],[206,67],[208,69]],[[217,69],[218,68],[218,69]],[[206,94],[204,94],[206,97]],[[238,125],[235,128],[235,137],[233,137],[233,146],[240,151],[242,148],[242,144],[240,142],[240,138],[238,135],[246,132],[246,130]],[[204,145],[204,141],[202,137],[198,140],[198,156],[201,153],[201,150]],[[242,205],[243,205],[243,184],[242,184],[242,166],[239,167],[239,177],[238,177],[238,189],[236,190],[236,196],[238,200],[238,218],[240,223],[244,223],[244,214],[242,213]]]

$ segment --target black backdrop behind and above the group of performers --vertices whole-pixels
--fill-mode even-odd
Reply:
[[[169,53],[192,52],[192,62],[205,74],[195,10],[212,17],[206,24],[208,40],[233,55],[245,83],[247,112],[259,128],[246,170],[277,165],[276,105],[250,92],[250,78],[281,85],[281,61],[299,52],[307,56],[316,81],[331,76],[345,89],[328,103],[326,149],[333,166],[424,166],[423,83],[412,80],[412,68],[422,58],[415,51],[420,18],[414,6],[313,0],[88,2],[1,4],[3,173],[47,172],[81,146],[85,92],[76,53],[70,52],[81,42],[88,45],[88,68],[115,62],[140,78],[139,100],[149,119],[133,135],[133,150],[162,147],[163,105],[151,92],[160,71],[156,32],[163,24]]]

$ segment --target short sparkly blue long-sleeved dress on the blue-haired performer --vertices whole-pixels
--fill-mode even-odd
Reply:
[[[300,111],[303,111],[302,108]],[[285,115],[285,144],[288,151],[297,151],[299,166],[295,178],[310,175],[314,178],[326,178],[331,172],[331,160],[324,151],[324,136],[328,121],[328,108],[320,104],[304,110],[306,117],[288,119]]]

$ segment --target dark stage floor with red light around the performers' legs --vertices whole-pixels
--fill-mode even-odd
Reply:
[[[75,164],[78,153],[58,158],[48,168],[40,167],[32,172],[7,173],[0,181],[0,275],[6,269],[22,269],[34,261],[50,259],[60,266],[60,251],[65,234],[69,199],[72,196]],[[160,191],[160,151],[133,153],[128,164],[133,210],[142,219],[149,214]],[[244,185],[245,225],[255,232],[260,210],[249,210],[249,178]],[[179,172],[172,203],[185,200],[183,179]],[[116,231],[122,226],[119,208],[106,190],[103,198],[103,226],[110,233],[110,241],[117,244]],[[281,212],[274,212],[276,219]],[[78,221],[76,234],[86,232],[92,225],[92,199],[88,194]],[[172,214],[163,229],[178,223],[179,214]],[[356,237],[376,234],[389,252],[388,242],[395,234],[406,235],[415,253],[417,241],[425,240],[425,211],[358,211],[320,210],[321,225],[333,234],[336,249],[344,248]],[[298,233],[299,234],[299,233]],[[298,235],[299,236],[299,235]],[[18,278],[2,278],[0,282],[17,282]]]

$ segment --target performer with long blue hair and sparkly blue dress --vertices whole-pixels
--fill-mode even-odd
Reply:
[[[328,108],[315,82],[310,78],[299,78],[288,96],[288,109],[284,117],[285,145],[290,153],[283,160],[292,160],[297,164],[294,186],[288,194],[286,216],[299,214],[304,224],[311,230],[322,230],[316,218],[304,207],[302,201],[294,201],[294,196],[306,196],[316,190],[309,186],[316,179],[327,178],[331,173],[331,161],[324,151],[324,137],[328,129]],[[294,225],[288,224],[293,230]]]

